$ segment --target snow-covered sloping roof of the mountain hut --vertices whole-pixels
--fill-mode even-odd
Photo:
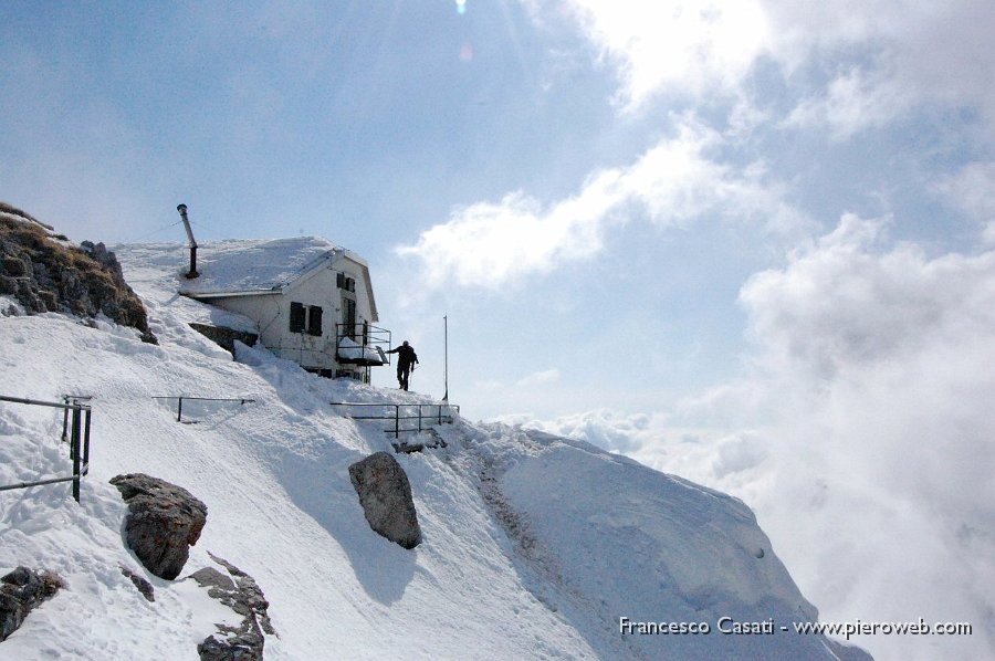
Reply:
[[[182,248],[187,253],[189,249]],[[345,252],[318,237],[247,239],[198,244],[199,277],[184,282],[180,293],[234,294],[280,290]]]

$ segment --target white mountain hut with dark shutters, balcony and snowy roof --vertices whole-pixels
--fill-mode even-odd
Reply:
[[[369,267],[315,237],[202,243],[179,293],[249,317],[263,346],[326,377],[369,382],[387,363]]]

